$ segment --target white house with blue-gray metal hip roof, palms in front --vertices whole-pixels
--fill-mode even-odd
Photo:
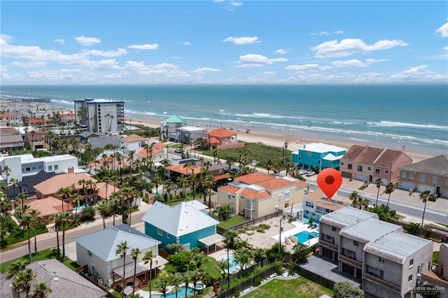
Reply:
[[[134,276],[134,260],[130,257],[132,248],[141,250],[137,259],[137,276],[144,276],[142,280],[148,281],[149,265],[142,262],[146,252],[152,250],[156,256],[157,262],[153,262],[153,270],[167,263],[167,260],[158,255],[160,241],[124,224],[78,236],[73,240],[76,242],[76,262],[81,267],[87,266],[85,273],[94,276],[99,284],[103,283],[106,287],[123,284],[123,258],[116,255],[116,248],[123,241],[127,241],[127,246],[130,247],[125,257],[126,279]]]

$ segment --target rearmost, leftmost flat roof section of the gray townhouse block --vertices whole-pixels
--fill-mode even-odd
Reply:
[[[344,227],[349,227],[360,221],[366,220],[367,218],[373,217],[377,218],[377,215],[368,211],[345,207],[332,213],[323,215],[321,217],[321,222],[342,229]]]

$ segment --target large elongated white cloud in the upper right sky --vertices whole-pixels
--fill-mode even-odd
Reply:
[[[340,43],[337,42],[337,39],[334,41],[325,41],[325,43],[321,43],[320,45],[316,45],[312,47],[311,50],[316,52],[314,57],[323,58],[323,57],[346,57],[355,54],[356,52],[368,52],[373,50],[387,50],[390,48],[394,48],[396,46],[406,46],[408,45],[404,41],[400,40],[384,40],[377,41],[372,45],[367,45],[359,38],[346,38],[342,39]]]

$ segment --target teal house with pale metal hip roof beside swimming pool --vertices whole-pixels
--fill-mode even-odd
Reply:
[[[162,242],[162,248],[171,243],[180,243],[185,250],[199,247],[209,250],[224,237],[216,234],[218,220],[197,210],[192,204],[182,202],[168,206],[155,201],[142,220],[145,222],[145,234]]]

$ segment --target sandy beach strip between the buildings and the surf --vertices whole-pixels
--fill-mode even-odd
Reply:
[[[125,122],[127,125],[146,125],[148,127],[157,128],[160,127],[160,122],[158,120],[148,120],[148,119],[141,119],[141,118],[132,118],[132,121],[129,121],[130,119],[126,119]],[[205,129],[213,130],[218,127],[209,128],[209,127],[203,127],[199,126]],[[288,150],[296,152],[300,146],[307,145],[309,143],[325,143],[332,146],[338,146],[342,148],[346,148],[347,150],[352,145],[360,145],[360,146],[372,146],[372,147],[379,147],[384,148],[386,146],[381,146],[381,143],[378,144],[369,144],[367,142],[353,142],[350,143],[349,141],[341,141],[341,140],[335,140],[335,139],[324,139],[321,137],[314,137],[314,136],[304,136],[300,134],[293,134],[290,132],[271,132],[268,130],[258,129],[258,127],[251,127],[251,131],[249,133],[246,133],[244,130],[241,130],[237,132],[237,139],[240,141],[245,141],[248,143],[258,143],[261,142],[265,145],[274,146],[278,148],[282,148],[284,146],[284,143],[286,140],[290,141],[288,143]],[[389,147],[390,148],[390,147]],[[402,150],[399,148],[391,148],[393,150]],[[413,162],[420,162],[423,159],[428,159],[430,157],[435,157],[437,154],[430,154],[428,152],[422,152],[422,151],[416,151],[416,150],[402,150],[405,152],[407,156],[409,156]]]

